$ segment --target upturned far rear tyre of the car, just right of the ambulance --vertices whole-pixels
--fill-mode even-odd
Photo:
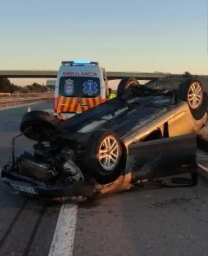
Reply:
[[[124,99],[129,98],[132,94],[130,88],[133,86],[139,86],[139,81],[136,78],[123,78],[118,84],[117,98]]]

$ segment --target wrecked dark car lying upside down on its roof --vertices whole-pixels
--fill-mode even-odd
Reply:
[[[44,111],[28,112],[2,180],[48,199],[94,198],[144,184],[196,185],[196,133],[207,121],[206,108],[203,85],[188,77],[172,90],[127,79],[116,98],[62,123]],[[21,135],[36,141],[34,153],[16,157],[14,144]],[[165,182],[181,173],[191,179]]]

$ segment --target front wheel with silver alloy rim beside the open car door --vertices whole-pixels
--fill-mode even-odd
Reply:
[[[109,150],[106,148],[108,142],[109,145],[114,145],[114,151],[105,154],[104,150]],[[101,150],[103,150],[102,158]],[[105,160],[108,160],[109,156],[111,156],[111,162],[108,162],[108,165]],[[112,157],[115,160],[114,163]],[[122,142],[115,132],[98,130],[91,134],[87,141],[85,164],[89,174],[100,184],[107,184],[118,178],[124,165],[124,154]]]

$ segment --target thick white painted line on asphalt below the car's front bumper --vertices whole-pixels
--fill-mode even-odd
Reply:
[[[48,256],[73,256],[77,204],[62,204]]]

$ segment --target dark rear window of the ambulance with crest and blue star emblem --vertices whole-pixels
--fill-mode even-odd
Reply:
[[[97,97],[100,95],[100,79],[91,76],[62,76],[59,94],[64,97]]]

